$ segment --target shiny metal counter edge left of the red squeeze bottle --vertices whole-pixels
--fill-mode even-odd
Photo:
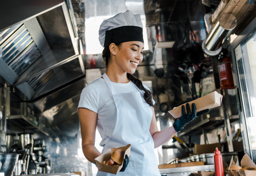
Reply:
[[[175,167],[167,169],[159,169],[159,172],[163,176],[189,176],[193,172],[197,171],[214,171],[214,164],[204,166],[190,166],[190,167]]]

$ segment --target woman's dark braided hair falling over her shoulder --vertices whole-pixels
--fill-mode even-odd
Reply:
[[[116,44],[116,46],[120,49],[122,46],[122,43]],[[105,61],[106,64],[106,68],[108,67],[108,63],[110,61],[110,50],[109,47],[105,47],[102,51],[102,58]],[[153,95],[151,93],[151,91],[148,91],[142,84],[142,82],[137,79],[133,74],[127,73],[127,78],[132,81],[140,90],[144,91],[144,99],[146,101],[146,103],[149,104],[149,106],[154,107],[155,109],[155,105],[153,105]]]

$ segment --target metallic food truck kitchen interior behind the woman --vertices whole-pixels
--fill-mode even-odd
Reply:
[[[245,154],[256,163],[255,3],[1,1],[0,153],[20,155],[10,173],[0,172],[96,176],[82,152],[78,103],[82,89],[106,71],[99,26],[126,10],[141,14],[145,49],[135,76],[154,95],[159,130],[172,126],[174,107],[213,91],[223,95],[221,106],[155,149],[161,175],[214,171],[216,147],[226,167]],[[97,131],[101,152],[100,141]]]

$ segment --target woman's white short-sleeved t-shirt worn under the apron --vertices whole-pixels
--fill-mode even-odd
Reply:
[[[111,84],[116,94],[139,91],[131,81],[126,84],[116,82],[111,82]],[[148,87],[143,86],[149,90]],[[155,104],[154,100],[153,104]],[[114,132],[117,110],[113,95],[103,78],[96,79],[82,90],[79,107],[85,107],[98,113],[97,128],[102,138],[100,146],[104,146]]]

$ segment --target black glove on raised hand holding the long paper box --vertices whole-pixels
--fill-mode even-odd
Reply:
[[[195,103],[192,104],[192,112],[190,111],[189,103],[186,104],[187,108],[187,115],[185,113],[185,107],[182,105],[181,107],[181,117],[178,118],[172,125],[174,127],[174,130],[177,131],[177,133],[180,133],[180,131],[185,127],[186,124],[193,121],[198,116],[203,115],[204,113],[207,113],[210,111],[210,109],[202,110],[197,113],[197,107],[195,107]]]

